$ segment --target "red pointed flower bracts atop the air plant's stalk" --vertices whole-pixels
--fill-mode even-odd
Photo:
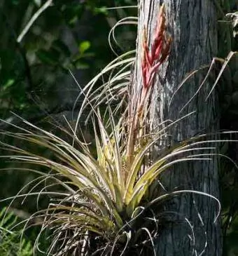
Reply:
[[[158,16],[158,23],[155,30],[155,39],[151,46],[151,51],[148,47],[148,40],[146,35],[146,29],[144,29],[143,39],[143,59],[142,59],[142,77],[144,88],[148,89],[151,86],[155,72],[158,67],[165,61],[169,55],[169,49],[171,44],[171,38],[166,36],[165,32],[165,6],[160,7],[160,13]]]

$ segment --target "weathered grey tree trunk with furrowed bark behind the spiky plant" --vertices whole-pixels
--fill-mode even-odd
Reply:
[[[179,83],[188,72],[202,65],[209,65],[216,56],[216,6],[213,0],[165,0],[164,2],[167,31],[171,34],[173,42],[169,58],[158,70],[154,81],[150,121],[153,127],[157,127],[162,120],[176,121],[181,116],[195,111],[174,126],[171,132],[172,140],[176,142],[200,133],[218,130],[216,94],[212,93],[209,99],[205,100],[212,87],[211,77],[188,107],[181,111],[186,102],[195,95],[208,69],[197,72],[176,92]],[[137,65],[134,71],[134,81],[137,86],[141,86],[142,83],[143,29],[146,27],[148,31],[150,46],[161,4],[162,1],[158,0],[139,1]],[[213,145],[209,144],[209,146]],[[208,152],[209,150],[206,151]],[[194,161],[176,165],[172,170],[166,171],[161,180],[168,191],[193,189],[219,198],[218,159],[214,156],[212,161]],[[218,218],[214,223],[218,213],[218,203],[214,199],[197,194],[181,194],[167,203],[165,211],[169,222],[165,224],[158,238],[158,255],[221,255],[221,221]]]

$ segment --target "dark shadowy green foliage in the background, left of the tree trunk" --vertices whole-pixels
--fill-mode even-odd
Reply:
[[[69,70],[75,74],[80,86],[92,79],[114,58],[108,43],[111,26],[127,15],[137,15],[137,8],[107,10],[136,4],[131,0],[53,1],[18,43],[22,29],[44,3],[42,0],[0,1],[0,118],[14,123],[15,113],[43,127],[57,129],[50,123],[63,126],[63,114],[66,113],[72,122],[74,120],[71,113],[79,88]],[[123,46],[116,46],[118,53],[134,48],[135,35],[136,28],[120,27],[116,30],[117,39]],[[3,123],[0,123],[0,129],[12,130]],[[16,143],[15,140],[9,142]],[[43,149],[37,150],[48,154]],[[27,182],[36,178],[34,173],[16,173],[13,166],[13,163],[0,159],[0,168],[8,168],[0,173],[0,200],[15,196]],[[28,189],[26,187],[23,191]],[[12,205],[13,209],[22,210],[19,221],[36,210],[35,198],[27,199],[23,206],[21,201]],[[0,209],[8,203],[1,203]],[[39,208],[46,204],[47,198],[39,198]],[[37,228],[27,231],[32,243],[37,233]],[[15,233],[13,236],[1,243],[8,251],[6,255],[15,255],[7,249],[9,243],[18,237]],[[0,255],[4,254],[0,252]]]

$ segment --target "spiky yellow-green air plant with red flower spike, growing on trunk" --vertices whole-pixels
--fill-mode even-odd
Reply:
[[[172,42],[166,34],[164,6],[160,8],[158,17],[151,47],[144,32],[141,86],[134,88],[130,82],[134,51],[111,62],[82,90],[85,100],[76,128],[69,125],[69,131],[64,130],[73,143],[24,119],[24,127],[16,127],[20,130],[18,133],[4,133],[48,149],[53,154],[52,159],[46,158],[1,142],[4,149],[14,153],[8,158],[51,170],[49,174],[43,174],[39,182],[50,180],[50,184],[45,182],[45,189],[15,196],[46,194],[52,197],[45,211],[31,217],[43,218],[38,238],[45,231],[51,232],[52,244],[46,255],[156,255],[154,241],[160,234],[161,204],[165,200],[183,192],[214,198],[199,191],[167,193],[158,180],[175,163],[211,159],[206,150],[214,149],[214,146],[209,147],[214,140],[206,140],[206,135],[190,138],[169,149],[160,149],[158,158],[151,159],[155,143],[166,138],[167,130],[179,122],[168,122],[166,126],[162,123],[162,128],[156,133],[148,131],[153,77],[169,56]],[[116,74],[113,73],[115,70]],[[111,72],[109,81],[93,90],[95,83],[107,72]],[[106,110],[102,112],[100,106],[105,103]],[[78,135],[79,120],[88,107],[96,157],[92,146]],[[32,170],[37,171],[35,168]],[[55,185],[61,185],[62,189],[54,189]],[[220,207],[219,201],[214,200]],[[38,247],[38,239],[35,248],[42,250]]]

